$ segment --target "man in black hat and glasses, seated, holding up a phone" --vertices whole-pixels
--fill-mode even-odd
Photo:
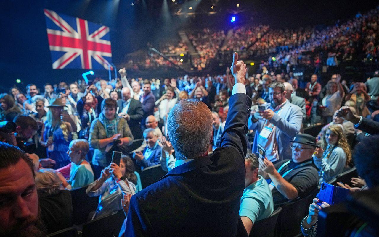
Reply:
[[[298,134],[291,141],[292,160],[283,160],[275,165],[267,158],[259,159],[263,177],[269,178],[274,206],[281,206],[288,200],[306,197],[318,185],[318,172],[313,164],[316,138],[309,134]]]

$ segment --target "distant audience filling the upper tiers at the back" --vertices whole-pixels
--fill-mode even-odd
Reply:
[[[366,14],[357,14],[345,23],[337,22],[319,30],[316,26],[298,29],[271,29],[268,25],[238,26],[232,35],[226,37],[223,30],[205,28],[202,31],[187,32],[188,39],[199,57],[193,57],[192,66],[201,71],[208,67],[211,60],[224,58],[234,51],[252,56],[268,56],[262,62],[267,68],[286,68],[287,65],[337,66],[341,62],[378,63],[379,9]],[[224,42],[227,40],[227,42]],[[184,42],[161,46],[164,54],[186,53]],[[273,60],[272,58],[275,58]],[[172,57],[175,64],[180,61]],[[129,62],[128,69],[169,68],[171,64],[160,56],[146,56],[146,59]]]

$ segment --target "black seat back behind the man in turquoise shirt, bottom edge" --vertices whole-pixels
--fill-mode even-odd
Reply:
[[[250,237],[275,237],[276,226],[282,208],[277,208],[269,217],[254,223]]]

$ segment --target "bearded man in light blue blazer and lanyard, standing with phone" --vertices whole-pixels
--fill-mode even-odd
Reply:
[[[273,82],[268,89],[270,103],[264,111],[255,112],[251,117],[250,130],[255,130],[252,151],[257,152],[258,144],[266,149],[271,162],[291,158],[290,141],[299,133],[302,123],[301,109],[285,98],[282,82]]]

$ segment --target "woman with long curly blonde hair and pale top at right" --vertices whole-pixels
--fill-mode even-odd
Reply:
[[[323,146],[316,149],[313,161],[319,169],[319,183],[334,179],[348,167],[351,151],[340,125],[334,124],[325,130]]]

